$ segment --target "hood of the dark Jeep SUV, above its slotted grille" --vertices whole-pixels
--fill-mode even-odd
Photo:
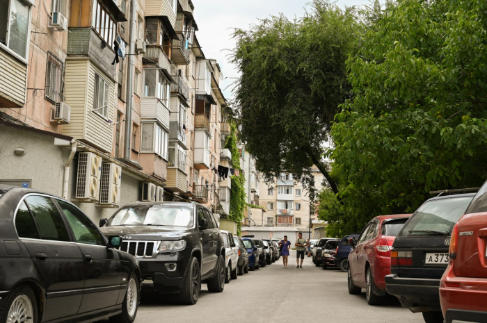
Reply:
[[[188,229],[174,226],[104,226],[100,228],[103,234],[131,236],[132,238],[181,238],[188,235]]]

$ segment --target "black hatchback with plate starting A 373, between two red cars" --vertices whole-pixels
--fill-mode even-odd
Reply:
[[[391,252],[385,287],[401,305],[421,312],[425,322],[443,322],[440,279],[449,260],[452,230],[474,194],[434,197],[416,210],[401,229]]]

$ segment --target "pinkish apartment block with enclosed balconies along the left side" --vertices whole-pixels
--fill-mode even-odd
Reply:
[[[93,220],[134,201],[227,212],[230,185],[214,169],[231,160],[229,108],[193,10],[0,0],[0,183],[63,196]]]

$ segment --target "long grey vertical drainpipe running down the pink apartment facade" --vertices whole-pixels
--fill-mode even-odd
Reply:
[[[132,104],[134,102],[134,57],[135,57],[135,38],[136,38],[136,21],[135,21],[135,10],[136,1],[130,1],[130,36],[129,36],[129,63],[128,63],[128,73],[127,73],[127,102],[125,106],[125,149],[123,158],[130,160],[130,139],[131,139],[131,126],[132,126]]]

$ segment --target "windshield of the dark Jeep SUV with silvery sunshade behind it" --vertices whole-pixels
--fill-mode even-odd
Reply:
[[[186,206],[140,205],[122,208],[108,226],[193,226],[193,209]]]

